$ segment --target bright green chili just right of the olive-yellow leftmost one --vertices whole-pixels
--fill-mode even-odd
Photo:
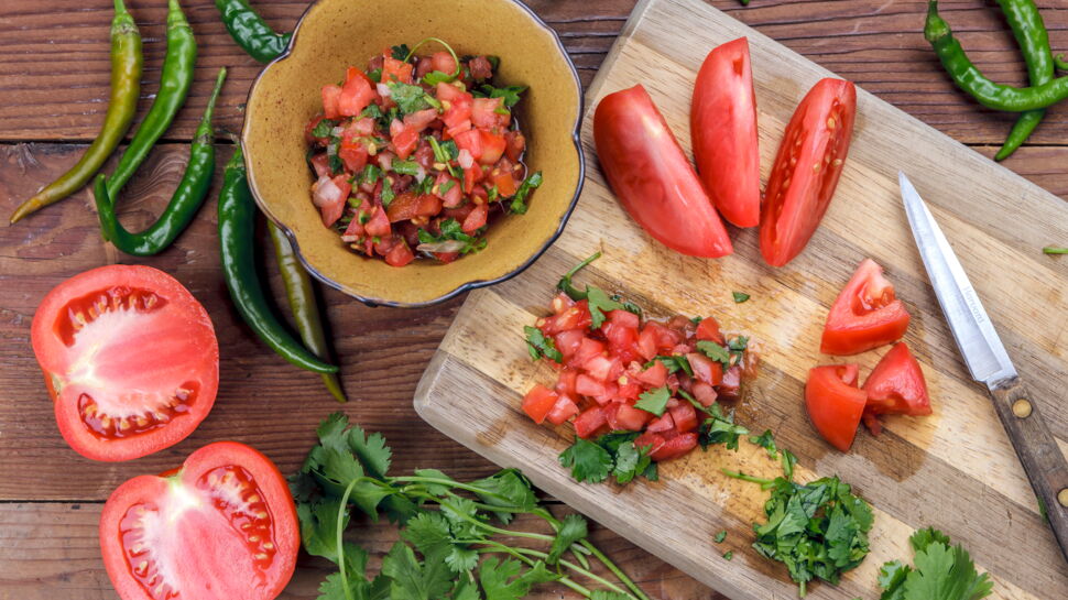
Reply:
[[[130,181],[133,172],[149,156],[149,152],[161,135],[171,127],[174,116],[185,103],[193,85],[193,67],[197,59],[197,43],[193,29],[186,21],[178,0],[167,3],[167,54],[163,59],[160,75],[160,91],[152,100],[144,120],[130,141],[115,173],[108,177],[108,196],[115,198],[122,186]]]

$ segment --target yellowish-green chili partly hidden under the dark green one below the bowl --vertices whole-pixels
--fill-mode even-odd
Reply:
[[[271,241],[274,242],[274,257],[279,262],[282,283],[285,284],[285,295],[290,301],[290,312],[293,313],[296,330],[301,334],[304,346],[320,359],[329,360],[330,347],[326,340],[326,330],[315,298],[312,276],[297,260],[296,252],[290,246],[285,233],[270,220],[268,220],[268,231],[271,232]],[[349,399],[345,397],[345,390],[341,389],[337,374],[323,373],[323,383],[335,400],[348,402]]]

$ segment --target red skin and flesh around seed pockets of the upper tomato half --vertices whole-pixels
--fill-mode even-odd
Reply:
[[[100,385],[94,389],[91,384],[68,381],[68,370],[83,357],[76,353],[77,334],[65,325],[69,323],[69,318],[63,316],[72,310],[86,312],[84,306],[76,307],[81,298],[88,299],[123,288],[150,292],[166,304],[143,317],[146,319],[143,325],[124,328],[137,330],[137,335],[141,336],[141,342],[132,340],[135,342],[134,348],[122,343],[118,349],[115,349],[115,345],[106,345],[99,350],[97,361],[103,362],[108,371],[99,377],[105,378],[105,381],[118,377],[120,381],[107,381],[110,384],[107,389],[99,389]],[[141,312],[137,310],[130,318],[142,318],[140,315]],[[86,329],[90,327],[91,319]],[[70,336],[75,343],[68,346],[65,339]],[[106,335],[102,337],[107,338]],[[192,434],[215,404],[219,388],[219,343],[215,327],[204,306],[193,294],[177,280],[157,269],[112,264],[91,269],[64,281],[52,288],[37,306],[31,326],[31,341],[33,353],[44,371],[59,434],[72,449],[86,458],[115,462],[140,458],[173,446]],[[156,348],[160,350],[154,350]],[[178,369],[179,372],[167,373],[168,368]],[[81,394],[87,393],[92,397],[97,393],[124,392],[126,390],[118,388],[126,377],[124,369],[134,370],[130,373],[131,377],[142,371],[163,372],[154,375],[151,381],[138,382],[142,389],[157,382],[167,384],[173,381],[177,384],[178,381],[192,381],[198,385],[198,390],[184,413],[171,414],[166,410],[170,418],[162,426],[121,438],[98,435],[84,421],[79,406]],[[112,375],[113,371],[122,374]],[[166,374],[172,375],[170,380],[159,381],[159,378]],[[148,407],[157,408],[154,405]]]

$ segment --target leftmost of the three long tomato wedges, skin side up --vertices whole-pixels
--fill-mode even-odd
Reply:
[[[733,252],[723,221],[644,87],[601,99],[593,141],[609,185],[650,236],[690,257]]]

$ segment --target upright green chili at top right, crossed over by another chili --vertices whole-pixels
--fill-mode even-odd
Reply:
[[[998,0],[998,4],[1001,6],[1005,21],[1023,52],[1031,85],[1040,86],[1053,80],[1055,65],[1053,51],[1049,48],[1049,32],[1046,31],[1046,23],[1043,22],[1034,0]],[[1027,141],[1045,116],[1044,108],[1021,113],[994,160],[1003,161],[1011,156]]]

